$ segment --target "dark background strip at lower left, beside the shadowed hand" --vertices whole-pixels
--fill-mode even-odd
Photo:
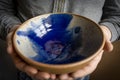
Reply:
[[[17,69],[6,52],[6,44],[0,40],[0,80],[17,80]]]

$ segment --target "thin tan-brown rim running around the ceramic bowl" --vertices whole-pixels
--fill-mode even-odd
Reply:
[[[82,61],[77,61],[77,62],[68,63],[68,64],[46,64],[46,63],[36,62],[36,61],[34,61],[34,60],[30,59],[30,58],[27,58],[27,57],[23,56],[23,55],[20,53],[20,51],[17,49],[17,47],[16,47],[16,43],[15,43],[16,34],[15,34],[15,33],[19,30],[19,28],[24,27],[23,25],[26,24],[26,23],[28,23],[28,22],[31,21],[32,19],[34,19],[34,18],[36,18],[36,17],[39,17],[39,16],[43,16],[43,15],[49,15],[49,14],[50,14],[50,15],[51,15],[51,14],[70,14],[70,15],[74,15],[74,16],[78,16],[78,17],[84,18],[84,19],[92,22],[93,24],[95,24],[95,25],[98,27],[98,29],[99,29],[99,30],[101,31],[101,33],[102,33],[101,36],[102,36],[102,39],[103,39],[103,40],[102,40],[101,46],[99,47],[99,49],[98,49],[96,52],[94,52],[94,53],[93,53],[92,55],[90,55],[89,57],[83,59]],[[77,66],[77,65],[84,64],[85,62],[89,62],[89,61],[92,60],[94,57],[96,57],[96,56],[100,53],[100,51],[103,49],[103,47],[104,47],[105,37],[104,37],[104,34],[103,34],[102,29],[100,28],[100,26],[99,26],[97,23],[95,23],[94,21],[92,21],[91,19],[89,19],[89,18],[87,18],[87,17],[81,16],[81,15],[78,15],[78,14],[74,14],[74,13],[62,13],[62,12],[61,12],[61,13],[60,13],[60,12],[58,12],[58,13],[47,13],[47,14],[38,15],[38,16],[36,16],[36,17],[33,17],[33,18],[25,21],[23,24],[21,24],[21,25],[19,26],[19,28],[16,29],[16,31],[15,31],[14,34],[13,34],[13,47],[15,48],[16,54],[18,54],[18,56],[20,56],[21,59],[23,59],[26,63],[28,63],[28,64],[30,64],[30,65],[33,65],[33,66],[41,66],[41,67],[51,68],[51,69],[53,69],[53,68],[54,68],[54,69],[61,69],[61,68],[74,67],[74,66]]]

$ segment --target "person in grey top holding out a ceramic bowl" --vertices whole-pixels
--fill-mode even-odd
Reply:
[[[14,51],[12,36],[24,21],[45,13],[75,13],[98,23],[104,32],[103,50],[86,67],[69,74],[42,72],[22,61]],[[7,51],[22,80],[88,80],[104,51],[112,51],[112,42],[120,37],[120,0],[0,0],[0,37],[6,39]]]

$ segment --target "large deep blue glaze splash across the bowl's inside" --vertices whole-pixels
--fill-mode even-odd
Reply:
[[[81,29],[75,27],[66,30],[72,18],[73,16],[68,14],[53,14],[40,20],[39,24],[31,22],[32,28],[28,28],[27,31],[17,31],[17,35],[30,40],[33,50],[38,53],[37,56],[31,58],[38,62],[49,64],[75,62],[84,57],[73,56],[74,50],[81,46],[75,42]],[[57,52],[59,54],[53,54]]]

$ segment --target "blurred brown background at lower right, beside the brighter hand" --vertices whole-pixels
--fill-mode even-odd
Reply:
[[[120,40],[113,43],[114,50],[104,53],[91,80],[120,80]]]

